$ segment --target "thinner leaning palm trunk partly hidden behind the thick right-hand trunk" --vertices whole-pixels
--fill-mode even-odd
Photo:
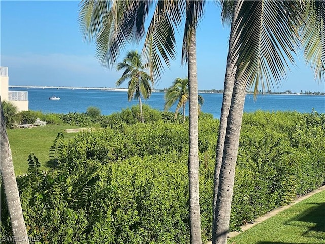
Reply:
[[[216,146],[216,159],[215,159],[215,168],[214,168],[214,189],[213,189],[213,205],[212,205],[212,238],[215,238],[217,223],[215,222],[215,208],[217,204],[217,195],[219,187],[219,175],[222,164],[223,156],[223,147],[225,134],[227,129],[228,115],[230,104],[232,100],[234,82],[236,77],[236,62],[237,56],[234,55],[234,38],[235,38],[235,21],[238,16],[239,4],[236,2],[234,15],[232,18],[230,37],[229,37],[229,49],[228,49],[228,58],[227,58],[227,68],[225,72],[224,87],[223,87],[223,100],[221,107],[221,116],[220,116],[220,125],[218,133],[218,141]]]

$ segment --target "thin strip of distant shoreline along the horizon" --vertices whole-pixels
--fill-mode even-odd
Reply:
[[[37,86],[37,85],[9,85],[9,88],[25,88],[25,89],[70,89],[70,90],[105,90],[110,92],[127,92],[127,88],[107,88],[107,87],[72,87],[72,86]],[[153,92],[164,92],[163,89],[153,90]],[[199,93],[220,93],[223,92],[208,92],[207,90],[198,90]],[[253,93],[247,93],[253,95]],[[257,95],[325,95],[325,94],[300,94],[300,93],[258,93]]]

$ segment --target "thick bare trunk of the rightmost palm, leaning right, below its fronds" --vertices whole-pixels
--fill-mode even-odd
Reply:
[[[228,126],[224,141],[222,167],[219,176],[222,180],[219,180],[218,186],[214,219],[216,228],[213,234],[214,238],[212,239],[213,244],[227,243],[245,94],[245,87],[236,83],[233,90],[232,103],[228,116]]]

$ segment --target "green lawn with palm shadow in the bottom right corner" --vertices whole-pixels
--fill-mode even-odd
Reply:
[[[229,244],[325,243],[325,191],[257,224]]]

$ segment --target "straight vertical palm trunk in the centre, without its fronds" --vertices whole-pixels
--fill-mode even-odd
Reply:
[[[201,219],[199,203],[199,151],[198,151],[198,79],[196,61],[196,31],[191,30],[190,46],[188,48],[188,89],[189,89],[189,155],[188,155],[188,185],[189,185],[189,223],[190,243],[202,243]]]

